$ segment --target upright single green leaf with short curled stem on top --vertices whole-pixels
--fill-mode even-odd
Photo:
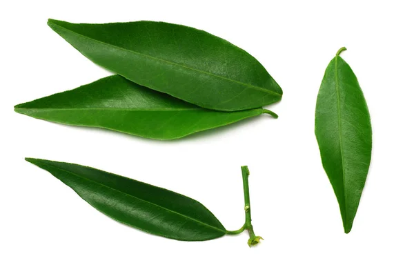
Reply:
[[[351,231],[371,161],[368,106],[357,77],[337,55],[329,63],[317,96],[315,134],[322,164],[335,191],[345,233]]]

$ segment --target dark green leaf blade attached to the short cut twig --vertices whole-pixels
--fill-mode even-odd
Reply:
[[[123,224],[182,241],[226,235],[202,204],[170,190],[76,164],[26,158],[57,177],[88,204]]]

